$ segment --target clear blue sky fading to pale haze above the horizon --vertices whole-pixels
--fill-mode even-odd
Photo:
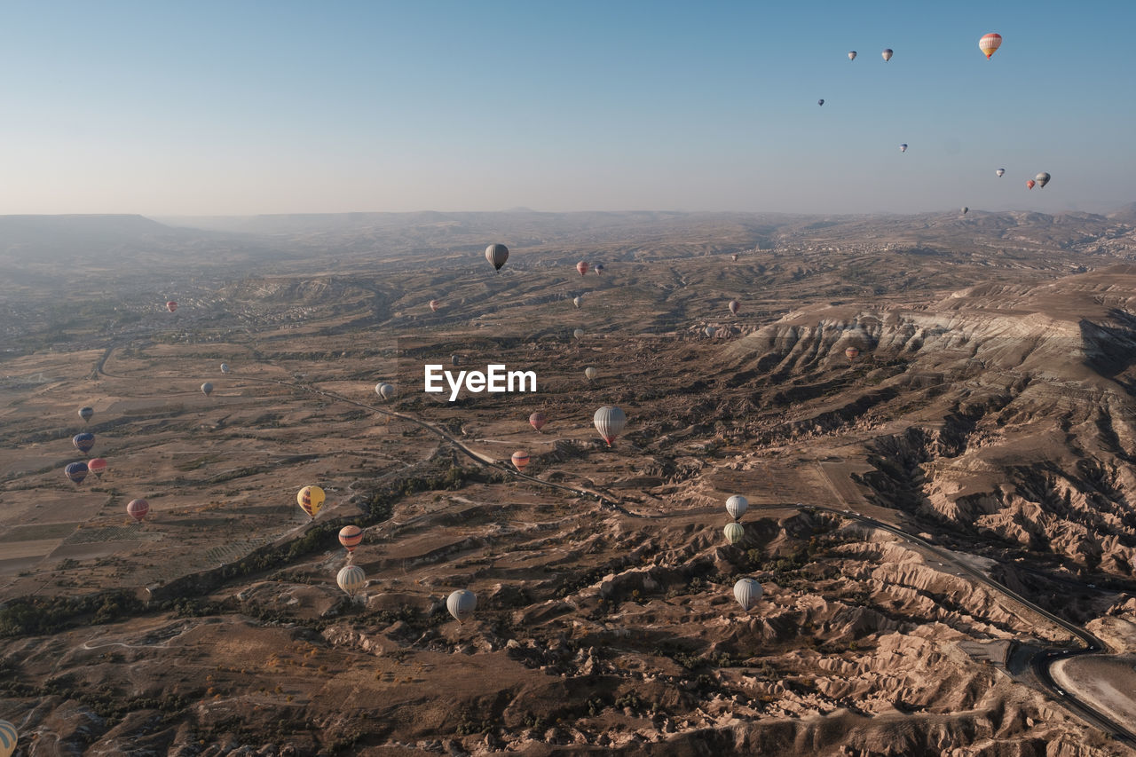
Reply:
[[[1134,28],[1127,0],[12,2],[0,214],[1106,209]]]

